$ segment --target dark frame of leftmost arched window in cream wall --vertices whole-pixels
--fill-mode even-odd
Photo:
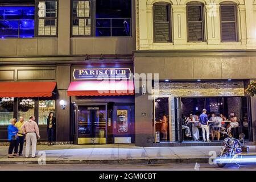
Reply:
[[[169,40],[168,41],[156,41],[155,40],[155,7],[156,6],[167,6],[168,7],[168,24],[169,24]],[[172,43],[172,16],[171,16],[171,4],[166,2],[156,2],[152,8],[152,15],[153,15],[153,41],[154,43]],[[158,22],[159,23],[159,22]],[[167,22],[160,22],[160,23],[167,23]]]

